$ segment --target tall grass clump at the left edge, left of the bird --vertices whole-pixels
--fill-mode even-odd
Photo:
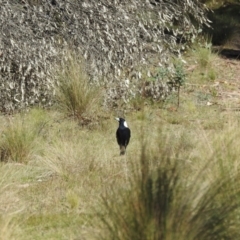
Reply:
[[[39,149],[39,139],[45,128],[43,110],[33,109],[27,114],[9,118],[0,139],[1,161],[26,163]]]

